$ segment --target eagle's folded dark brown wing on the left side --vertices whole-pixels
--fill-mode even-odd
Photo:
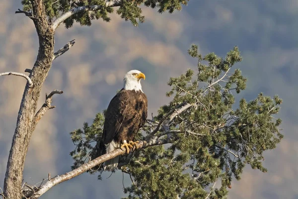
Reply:
[[[114,136],[118,134],[122,122],[125,120],[124,112],[129,103],[129,95],[126,90],[121,90],[111,101],[107,108],[102,143],[110,143]]]

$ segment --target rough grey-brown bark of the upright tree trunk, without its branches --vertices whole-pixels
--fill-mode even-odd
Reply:
[[[29,75],[34,87],[29,88],[28,83],[25,87],[9,151],[4,179],[4,197],[6,199],[21,199],[20,189],[25,157],[32,132],[36,127],[36,123],[32,125],[32,120],[36,112],[42,84],[52,65],[54,52],[54,31],[48,24],[43,1],[32,0],[31,2],[34,13],[32,19],[39,38],[39,50],[36,62]]]

